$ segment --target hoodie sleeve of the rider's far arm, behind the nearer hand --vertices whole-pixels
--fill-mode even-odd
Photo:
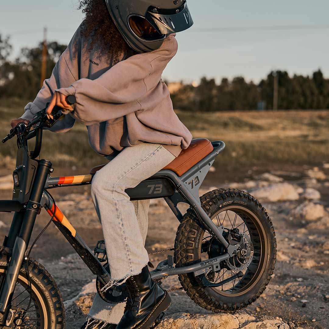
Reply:
[[[68,47],[63,52],[56,63],[51,77],[43,82],[43,86],[38,92],[37,97],[32,103],[25,106],[25,113],[21,116],[23,119],[32,120],[33,116],[44,109],[53,97],[56,89],[68,87],[78,79],[78,45],[80,40],[80,27],[75,32]],[[81,42],[80,42],[81,44]],[[75,119],[69,115],[56,122],[50,128],[54,132],[65,132],[70,130],[74,125]]]

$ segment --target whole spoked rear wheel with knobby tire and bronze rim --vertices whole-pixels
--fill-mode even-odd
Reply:
[[[235,256],[221,262],[218,271],[208,272],[207,279],[219,284],[238,272],[243,276],[215,288],[206,288],[193,273],[179,275],[179,280],[189,297],[202,308],[236,312],[261,295],[273,274],[276,238],[272,221],[259,201],[241,190],[213,190],[200,200],[216,226],[224,227],[225,239],[244,242]],[[189,209],[176,234],[176,267],[196,264],[226,252],[222,244],[198,224],[195,213]]]

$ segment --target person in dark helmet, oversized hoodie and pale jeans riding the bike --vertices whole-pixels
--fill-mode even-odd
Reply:
[[[186,149],[191,134],[173,111],[161,75],[177,52],[175,33],[193,22],[186,0],[84,0],[85,18],[52,75],[21,118],[28,122],[50,102],[63,109],[52,128],[87,126],[89,143],[111,160],[93,177],[92,200],[102,223],[111,282],[126,283],[127,303],[96,295],[82,328],[148,329],[170,304],[151,280],[144,247],[148,200],[131,202],[125,189],[137,186]],[[65,96],[75,95],[74,107]]]

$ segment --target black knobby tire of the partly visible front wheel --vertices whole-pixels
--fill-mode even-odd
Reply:
[[[7,248],[0,246],[0,276],[4,275],[8,260]],[[20,269],[17,281],[28,287],[27,271],[24,265]],[[34,300],[38,302],[40,314],[42,313],[44,318],[41,329],[64,329],[63,298],[55,280],[44,266],[33,258],[29,259],[29,273]]]

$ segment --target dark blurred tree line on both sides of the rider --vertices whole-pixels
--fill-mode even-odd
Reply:
[[[56,41],[47,43],[47,76],[65,48]],[[22,48],[16,59],[9,60],[12,51],[10,39],[0,34],[0,98],[34,99],[40,88],[42,42]],[[243,77],[223,78],[217,84],[215,79],[203,77],[198,86],[181,83],[171,98],[175,108],[189,111],[272,110],[274,73],[278,76],[279,109],[329,109],[329,79],[321,70],[312,76],[270,72],[259,84]]]

